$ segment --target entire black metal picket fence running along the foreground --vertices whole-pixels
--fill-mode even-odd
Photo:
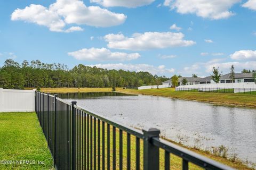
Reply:
[[[157,129],[130,128],[57,95],[36,91],[35,111],[57,169],[170,169],[174,155],[180,169],[232,169],[159,138]]]

